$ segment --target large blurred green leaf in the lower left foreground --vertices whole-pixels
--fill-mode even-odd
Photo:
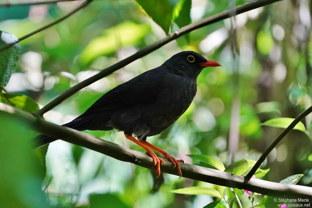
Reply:
[[[42,168],[29,142],[34,132],[22,119],[0,111],[0,207],[49,207]]]

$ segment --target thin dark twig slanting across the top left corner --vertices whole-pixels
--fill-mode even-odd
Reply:
[[[76,7],[75,9],[73,9],[71,12],[69,12],[69,13],[66,14],[65,16],[63,16],[63,17],[61,17],[61,18],[59,18],[59,19],[57,19],[57,20],[55,20],[55,21],[52,21],[51,23],[49,23],[49,24],[47,24],[47,25],[45,25],[45,26],[43,26],[43,27],[41,27],[41,28],[39,28],[39,29],[37,29],[37,30],[35,30],[35,31],[31,32],[31,33],[29,33],[29,34],[27,34],[27,35],[24,35],[23,37],[19,38],[17,41],[14,41],[14,42],[12,42],[12,43],[10,43],[10,44],[8,44],[8,45],[3,46],[2,48],[0,48],[0,51],[1,51],[1,50],[5,50],[5,49],[11,47],[12,45],[14,45],[14,44],[16,44],[16,43],[18,43],[18,42],[21,42],[22,40],[25,40],[26,38],[29,38],[30,36],[35,35],[35,34],[37,34],[38,32],[41,32],[41,31],[43,31],[43,30],[45,30],[45,29],[47,29],[47,28],[49,28],[49,27],[51,27],[51,26],[53,26],[53,25],[59,23],[60,21],[65,20],[67,17],[70,17],[71,15],[73,15],[73,14],[76,13],[76,12],[78,12],[78,11],[79,11],[80,9],[82,9],[83,7],[86,7],[86,6],[87,6],[90,2],[92,2],[92,1],[93,1],[93,0],[85,0],[83,3],[81,3],[78,7]]]

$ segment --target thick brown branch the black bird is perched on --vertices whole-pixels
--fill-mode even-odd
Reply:
[[[8,106],[4,103],[0,103],[0,113],[6,116],[11,116],[17,121],[23,120],[30,125],[30,128],[37,130],[42,134],[92,149],[96,152],[106,154],[124,162],[134,163],[144,168],[156,170],[156,168],[153,167],[152,158],[144,153],[125,148],[109,141],[95,138],[94,136],[71,128],[53,124],[41,119],[40,117],[36,117],[30,113]],[[255,178],[245,184],[244,177],[242,176],[236,176],[211,168],[204,168],[186,163],[181,166],[181,170],[183,177],[213,183],[220,186],[247,189],[256,193],[270,196],[281,196],[283,198],[306,197],[312,199],[311,187],[281,184]],[[172,164],[169,161],[165,161],[165,164],[161,167],[161,171],[163,173],[177,175],[177,170],[172,169]]]

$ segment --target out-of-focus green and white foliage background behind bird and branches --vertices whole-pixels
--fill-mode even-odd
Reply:
[[[246,2],[237,0],[236,5]],[[231,163],[231,157],[257,160],[282,131],[261,123],[276,117],[295,118],[312,105],[309,2],[281,1],[237,15],[237,41],[229,19],[193,31],[80,90],[44,117],[57,124],[69,122],[118,84],[161,65],[182,50],[194,50],[222,67],[204,69],[198,77],[196,97],[186,113],[148,141],[175,158],[202,166],[205,164],[186,155],[205,154],[226,165]],[[0,29],[21,37],[80,3],[0,7]],[[191,21],[228,8],[225,0],[193,0]],[[176,29],[178,26],[173,24],[172,31]],[[25,94],[44,106],[76,83],[165,35],[135,1],[95,0],[65,21],[22,41],[21,57],[5,90]],[[303,122],[308,130],[310,121],[311,115]],[[230,126],[237,126],[238,142],[231,140],[235,135],[230,133]],[[143,152],[122,132],[86,132]],[[234,148],[235,155],[228,152],[230,142],[238,146],[237,150]],[[298,184],[311,186],[311,149],[311,139],[292,130],[265,161],[263,167],[271,170],[263,179],[279,182],[303,173]],[[154,171],[61,140],[49,145],[46,169],[43,197],[51,206],[88,207],[93,203],[93,207],[203,207],[213,201],[211,196],[169,191],[188,186],[223,190],[165,173],[155,180]],[[242,196],[242,203],[251,206],[248,195]]]

